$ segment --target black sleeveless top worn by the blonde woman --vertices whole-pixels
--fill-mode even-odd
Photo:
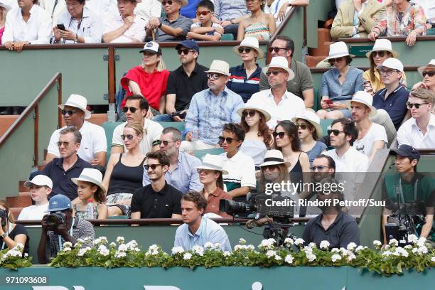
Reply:
[[[142,177],[144,176],[144,160],[139,166],[125,166],[121,162],[122,154],[119,154],[119,161],[115,164],[110,176],[109,190],[107,195],[114,193],[134,193],[142,187]]]

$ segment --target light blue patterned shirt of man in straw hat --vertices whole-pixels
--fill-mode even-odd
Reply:
[[[190,101],[186,116],[186,131],[199,130],[200,140],[205,144],[218,144],[222,127],[227,123],[240,123],[237,109],[243,107],[243,100],[232,90],[214,95],[210,89],[197,92]]]

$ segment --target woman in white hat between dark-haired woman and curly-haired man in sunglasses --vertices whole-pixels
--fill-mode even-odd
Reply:
[[[310,167],[314,161],[327,146],[321,141],[317,141],[322,136],[322,127],[320,118],[311,109],[306,109],[305,112],[297,114],[291,119],[296,127],[298,127],[299,140],[301,141],[301,149],[308,155]]]

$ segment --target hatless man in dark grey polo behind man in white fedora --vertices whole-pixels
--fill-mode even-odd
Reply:
[[[287,91],[304,100],[305,107],[313,107],[313,77],[304,63],[296,61],[293,58],[294,41],[288,36],[276,36],[272,46],[269,48],[269,52],[272,54],[272,58],[284,56],[287,60],[287,68],[290,68],[294,73],[294,77],[289,78],[286,82]],[[259,87],[260,91],[269,90],[272,87],[265,72],[260,77]]]

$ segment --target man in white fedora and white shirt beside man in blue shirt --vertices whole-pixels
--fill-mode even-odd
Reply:
[[[297,113],[305,111],[304,100],[287,91],[287,81],[294,78],[294,72],[284,56],[272,58],[269,66],[262,72],[267,75],[269,90],[262,90],[252,95],[252,101],[264,104],[264,109],[271,113],[267,122],[269,128],[276,127],[279,121],[291,120]]]

